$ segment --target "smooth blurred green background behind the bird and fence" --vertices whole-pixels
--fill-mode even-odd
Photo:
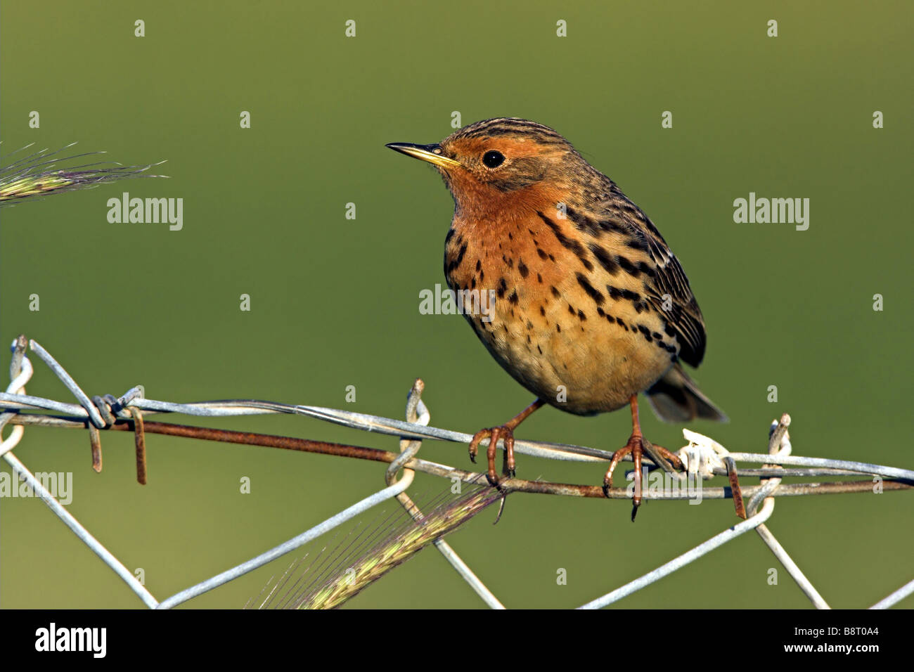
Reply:
[[[428,167],[384,144],[437,141],[452,132],[453,111],[464,124],[520,116],[566,135],[683,262],[709,334],[696,379],[731,419],[692,429],[761,452],[787,411],[794,453],[914,466],[910,17],[904,2],[5,2],[4,153],[79,141],[125,164],[167,159],[158,170],[171,178],[5,208],[0,341],[36,338],[90,394],[143,384],[151,399],[257,398],[399,418],[421,377],[432,424],[474,432],[505,421],[530,394],[461,316],[418,309],[420,290],[443,283],[451,197]],[[779,37],[766,36],[771,18]],[[347,19],[356,37],[345,37]],[[558,19],[568,37],[556,37]],[[33,110],[40,129],[28,128]],[[666,110],[672,129],[661,128]],[[241,111],[250,130],[239,128]],[[184,229],[110,224],[106,201],[123,191],[183,197]],[[809,230],[735,224],[733,199],[749,191],[810,198]],[[345,219],[349,202],[355,220]],[[39,312],[28,310],[31,293]],[[239,311],[242,293],[250,313]],[[345,403],[348,385],[356,403]],[[766,400],[770,385],[778,403]],[[70,400],[38,362],[27,389]],[[650,411],[643,423],[656,443],[682,445],[679,426]],[[397,450],[395,438],[303,418],[210,424]],[[626,411],[547,409],[519,435],[612,450],[629,431]],[[101,475],[85,432],[27,428],[16,455],[33,472],[73,473],[69,510],[128,568],[143,568],[159,599],[383,486],[381,464],[147,443],[144,487],[128,433],[102,435]],[[426,442],[420,455],[469,466],[457,444]],[[518,472],[587,484],[602,475],[597,464],[526,456]],[[250,495],[239,494],[243,476]],[[434,496],[447,485],[419,475],[414,489]],[[649,503],[632,525],[622,501],[509,499],[496,527],[489,509],[450,538],[509,607],[584,603],[736,521],[729,501]],[[906,492],[781,498],[770,527],[826,600],[859,607],[911,579],[912,513]],[[242,606],[289,560],[187,606]],[[619,604],[809,606],[754,534]],[[0,501],[0,605],[141,606],[35,499]],[[349,603],[480,605],[434,550]]]

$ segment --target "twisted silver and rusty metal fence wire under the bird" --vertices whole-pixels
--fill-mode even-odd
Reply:
[[[27,350],[41,359],[53,371],[58,379],[72,392],[77,403],[68,403],[57,400],[48,400],[28,396],[26,384],[33,374],[32,364],[27,357]],[[363,413],[338,411],[335,409],[319,408],[314,406],[299,406],[274,403],[261,400],[228,400],[228,401],[199,401],[192,403],[174,403],[145,399],[143,389],[134,387],[121,397],[112,395],[92,397],[80,389],[76,381],[67,373],[66,369],[51,357],[45,348],[34,340],[27,340],[19,336],[13,342],[13,357],[10,363],[10,383],[5,392],[0,392],[0,438],[6,425],[10,425],[9,435],[0,443],[0,455],[6,464],[9,464],[19,479],[39,496],[54,514],[72,530],[112,571],[114,571],[127,586],[136,593],[143,603],[151,609],[168,609],[177,604],[185,603],[204,592],[211,591],[228,581],[233,581],[243,574],[253,571],[271,560],[300,548],[313,539],[317,539],[326,532],[339,527],[345,521],[367,511],[388,499],[397,498],[409,514],[417,518],[420,516],[418,507],[412,503],[406,493],[412,484],[416,471],[432,475],[439,475],[452,480],[465,483],[480,482],[481,475],[467,472],[449,466],[422,460],[416,455],[420,450],[423,439],[438,439],[457,443],[469,443],[472,437],[462,432],[452,432],[436,427],[430,427],[430,412],[420,399],[422,382],[417,380],[409,391],[407,401],[406,420],[399,421]],[[52,411],[48,413],[47,411]],[[146,421],[144,418],[154,413],[182,413],[191,416],[227,417],[235,415],[254,415],[264,413],[292,413],[334,422],[367,432],[380,432],[400,437],[399,453],[388,453],[357,446],[346,446],[335,443],[311,442],[303,439],[289,437],[276,437],[269,435],[254,435],[241,432],[227,432],[206,428],[192,428],[183,425],[172,425],[164,422]],[[790,417],[783,415],[780,421],[771,425],[768,453],[730,453],[723,446],[707,437],[685,430],[685,436],[690,445],[680,451],[688,475],[674,473],[672,477],[685,480],[689,476],[710,478],[713,475],[728,475],[731,487],[703,488],[703,498],[733,497],[737,501],[745,497],[748,504],[745,506],[747,518],[733,527],[724,529],[714,537],[703,541],[695,548],[685,551],[664,565],[649,571],[642,577],[630,581],[625,585],[596,597],[589,603],[580,605],[580,609],[598,609],[641,590],[643,587],[660,581],[665,576],[672,574],[685,565],[693,562],[710,551],[723,546],[728,541],[736,539],[750,530],[755,530],[762,542],[780,560],[784,569],[790,573],[793,580],[801,588],[816,608],[827,609],[828,603],[815,589],[813,584],[802,573],[801,569],[792,560],[787,550],[772,534],[767,522],[774,513],[775,498],[778,496],[813,496],[826,493],[871,492],[875,486],[883,490],[902,490],[914,487],[914,471],[883,466],[880,464],[866,464],[848,462],[845,460],[830,460],[818,457],[801,457],[792,454],[792,446],[787,427]],[[21,441],[24,428],[27,425],[41,425],[63,428],[88,429],[92,448],[92,466],[101,471],[101,431],[121,429],[133,431],[136,437],[137,478],[143,483],[145,480],[145,443],[146,432],[166,433],[172,435],[190,436],[200,439],[218,441],[237,441],[239,443],[259,443],[275,447],[292,448],[319,453],[340,454],[349,457],[373,459],[378,462],[388,463],[385,472],[386,486],[371,496],[357,501],[351,507],[345,508],[335,516],[329,517],[319,525],[305,530],[300,535],[282,542],[260,555],[242,562],[213,576],[197,585],[190,586],[181,592],[166,597],[159,601],[146,590],[139,581],[118,560],[111,551],[106,549],[88,529],[83,527],[76,517],[73,517],[64,508],[58,499],[51,494],[48,488],[33,475],[25,464],[16,457],[13,449]],[[540,443],[530,441],[517,441],[515,450],[539,457],[558,460],[574,460],[580,462],[600,462],[611,460],[612,453],[594,448],[558,443]],[[660,467],[668,468],[668,464],[656,461]],[[738,468],[736,463],[761,464],[760,468]],[[655,464],[656,466],[656,464]],[[672,472],[670,469],[669,471]],[[399,475],[399,478],[398,478]],[[865,480],[844,481],[835,483],[802,483],[782,484],[784,476],[847,476],[866,475]],[[760,485],[740,487],[739,476],[760,478]],[[877,484],[877,485],[875,485]],[[524,481],[510,479],[504,484],[505,490],[510,492],[538,492],[551,493],[564,496],[603,496],[601,488],[590,485],[568,485],[547,483],[542,481]],[[625,498],[630,496],[624,488],[613,488],[611,497]],[[653,499],[684,499],[689,495],[677,491],[672,493],[657,494],[643,492],[643,497]],[[504,609],[493,592],[491,592],[473,571],[466,565],[456,551],[443,539],[434,540],[435,547],[441,552],[455,571],[464,581],[473,588],[483,602],[494,609]],[[898,588],[897,591],[887,595],[884,599],[874,604],[872,609],[886,609],[896,604],[914,592],[914,580]]]

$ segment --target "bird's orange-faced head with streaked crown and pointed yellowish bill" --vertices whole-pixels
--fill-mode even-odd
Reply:
[[[390,149],[434,165],[458,211],[531,206],[557,195],[590,165],[568,140],[525,119],[498,118],[464,126],[438,144],[390,143]]]

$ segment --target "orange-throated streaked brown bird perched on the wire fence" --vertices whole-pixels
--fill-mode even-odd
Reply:
[[[682,265],[651,219],[553,129],[516,117],[472,123],[435,144],[388,148],[428,162],[451,192],[444,275],[462,314],[494,359],[536,396],[504,424],[473,435],[470,457],[489,439],[515,476],[514,432],[545,405],[575,415],[632,411],[632,434],[603,476],[627,454],[642,473],[645,445],[675,467],[674,453],[643,437],[638,394],[663,421],[726,421],[682,364],[705,356],[705,321]],[[484,297],[493,301],[485,307]],[[641,505],[635,478],[632,520]]]

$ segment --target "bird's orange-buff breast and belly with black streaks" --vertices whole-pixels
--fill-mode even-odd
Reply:
[[[613,411],[676,355],[664,316],[643,300],[643,283],[619,264],[615,276],[600,264],[616,247],[541,211],[455,217],[444,273],[476,335],[526,389],[564,411]]]

